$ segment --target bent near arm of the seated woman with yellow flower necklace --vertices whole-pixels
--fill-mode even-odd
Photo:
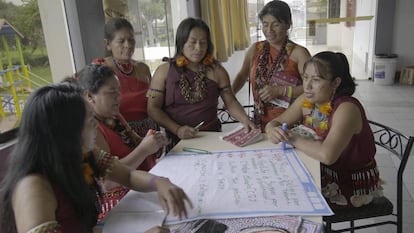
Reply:
[[[359,108],[351,102],[345,102],[334,112],[332,125],[325,140],[309,140],[290,134],[288,142],[321,163],[331,165],[338,160],[352,136],[361,129],[362,118]]]

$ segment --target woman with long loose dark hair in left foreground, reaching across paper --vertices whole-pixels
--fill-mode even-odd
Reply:
[[[96,120],[79,89],[57,84],[31,95],[0,186],[2,233],[92,232],[99,211],[97,180],[103,177],[134,190],[157,191],[167,213],[186,215],[189,200],[181,188],[167,178],[131,171],[94,149],[95,138]]]

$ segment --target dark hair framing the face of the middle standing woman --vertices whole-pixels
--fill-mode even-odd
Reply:
[[[177,33],[175,36],[175,55],[174,57],[180,56],[183,54],[184,44],[187,42],[188,37],[190,36],[191,30],[193,28],[200,28],[205,31],[207,34],[207,53],[212,54],[214,50],[213,42],[211,41],[210,28],[208,25],[201,19],[196,18],[186,18],[181,21],[178,25]]]

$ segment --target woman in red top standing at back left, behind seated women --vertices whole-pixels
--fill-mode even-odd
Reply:
[[[110,19],[105,24],[104,41],[110,55],[92,63],[106,65],[115,72],[121,87],[120,113],[129,126],[144,137],[149,129],[157,129],[158,126],[147,115],[145,95],[151,80],[149,67],[132,59],[135,38],[131,23],[124,18]],[[139,169],[150,170],[155,160],[156,155],[147,156]]]

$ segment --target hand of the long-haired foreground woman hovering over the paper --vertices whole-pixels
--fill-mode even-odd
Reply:
[[[158,191],[161,206],[165,213],[172,213],[174,216],[178,215],[180,220],[183,216],[187,218],[185,202],[187,202],[191,208],[193,208],[193,204],[187,194],[185,194],[184,190],[171,183],[171,181],[165,177],[156,178],[154,183]]]

